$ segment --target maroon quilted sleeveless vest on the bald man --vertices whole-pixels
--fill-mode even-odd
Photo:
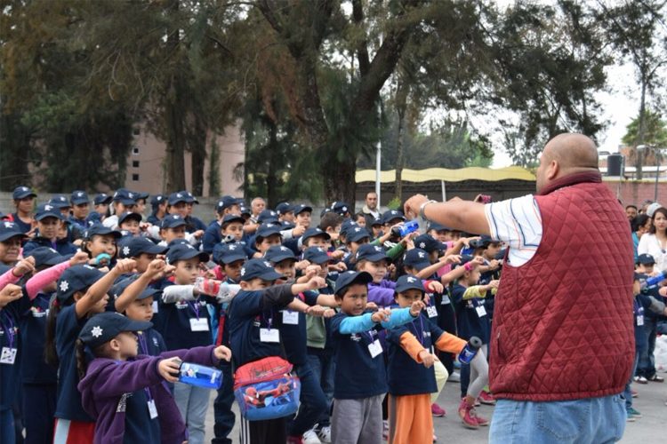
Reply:
[[[542,242],[502,267],[490,384],[497,398],[575,400],[623,391],[634,353],[632,240],[599,174],[562,178],[535,196]]]

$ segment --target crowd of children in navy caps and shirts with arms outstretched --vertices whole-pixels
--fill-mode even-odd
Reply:
[[[221,370],[214,443],[236,441],[235,424],[243,443],[431,442],[459,365],[462,425],[489,424],[476,406],[495,402],[500,242],[427,221],[411,232],[399,210],[369,219],[344,202],[314,226],[307,205],[227,195],[206,225],[187,191],[36,197],[19,186],[0,214],[0,442],[202,443],[211,392],[180,380],[181,361]],[[639,340],[645,316],[665,313],[667,288],[646,283],[654,262],[639,254],[635,306],[638,375],[657,381]],[[258,362],[285,378],[239,395]],[[288,414],[246,415],[288,392]]]

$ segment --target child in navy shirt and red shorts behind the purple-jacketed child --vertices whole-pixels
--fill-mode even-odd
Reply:
[[[121,259],[107,274],[92,266],[72,266],[60,276],[49,308],[45,345],[46,361],[58,366],[59,376],[54,444],[92,442],[95,423],[84,412],[76,390],[76,337],[88,316],[104,311],[116,278],[133,267],[133,260]]]

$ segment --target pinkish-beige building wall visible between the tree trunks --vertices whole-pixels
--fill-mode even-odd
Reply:
[[[208,175],[211,168],[210,154],[212,139],[215,138],[219,150],[220,163],[218,165],[220,194],[243,195],[243,180],[234,178],[234,168],[245,160],[245,147],[240,124],[225,128],[223,134],[210,133],[206,138],[206,162],[204,165],[204,195],[210,195]],[[125,187],[149,194],[169,193],[177,190],[165,190],[165,162],[166,144],[157,139],[141,126],[141,131],[135,134],[133,146],[127,157],[127,172]],[[191,155],[185,154],[185,184],[187,189],[192,188]],[[213,196],[217,197],[217,196]]]

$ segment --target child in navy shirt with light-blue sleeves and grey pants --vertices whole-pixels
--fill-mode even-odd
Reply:
[[[382,443],[387,372],[378,330],[413,321],[424,307],[422,301],[415,301],[409,308],[365,313],[371,281],[370,274],[351,271],[340,274],[336,281],[341,313],[331,321],[336,353],[332,442]]]

